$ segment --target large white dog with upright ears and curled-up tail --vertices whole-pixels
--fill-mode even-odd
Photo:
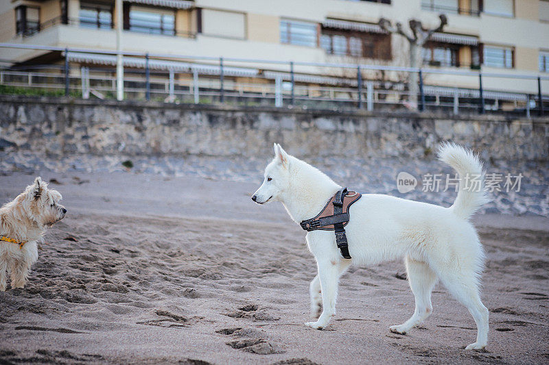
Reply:
[[[432,312],[431,292],[437,280],[475,319],[476,342],[467,350],[483,349],[488,338],[488,310],[479,297],[479,279],[484,251],[469,217],[486,203],[483,186],[468,190],[464,177],[482,176],[482,164],[472,153],[453,143],[439,149],[441,161],[460,175],[458,196],[451,207],[399,199],[382,194],[363,194],[350,208],[345,226],[350,260],[344,259],[334,231],[307,232],[307,246],[316,258],[318,275],[310,285],[312,316],[305,325],[323,329],[336,313],[338,281],[351,262],[373,265],[404,257],[408,281],[415,297],[412,317],[390,331],[406,333]],[[274,160],[265,169],[263,184],[253,201],[264,204],[280,201],[296,223],[316,216],[341,186],[317,168],[288,155],[274,144]]]

